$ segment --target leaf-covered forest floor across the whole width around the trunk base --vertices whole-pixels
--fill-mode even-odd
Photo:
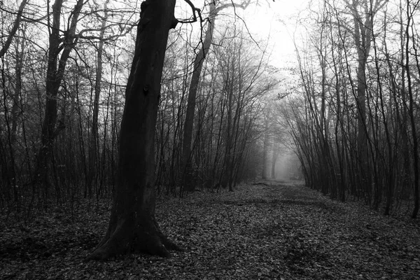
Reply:
[[[160,198],[162,231],[186,249],[169,259],[83,262],[110,214],[109,202],[86,207],[31,223],[1,217],[0,279],[420,279],[418,219],[335,202],[299,183]]]

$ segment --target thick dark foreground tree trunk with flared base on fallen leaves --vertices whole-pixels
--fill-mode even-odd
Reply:
[[[160,81],[169,29],[176,26],[175,0],[148,0],[141,19],[120,128],[116,195],[109,228],[87,260],[142,251],[169,257],[178,247],[155,221],[154,141]]]

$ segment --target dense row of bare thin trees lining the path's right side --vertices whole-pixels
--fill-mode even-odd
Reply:
[[[415,218],[418,3],[320,3],[309,47],[299,52],[302,95],[283,110],[305,179],[332,198],[360,197],[385,214],[412,207]]]

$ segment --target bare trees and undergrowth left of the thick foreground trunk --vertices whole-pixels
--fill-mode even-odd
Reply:
[[[13,3],[2,3],[0,201],[13,209],[25,204],[30,213],[31,207],[38,203],[48,204],[50,197],[57,197],[57,201],[63,203],[73,202],[66,198],[78,197],[79,190],[83,190],[78,186],[85,186],[85,197],[92,196],[90,184],[85,183],[88,175],[86,144],[92,139],[89,132],[92,107],[88,101],[90,90],[95,88],[92,77],[96,76],[96,71],[91,70],[96,67],[90,55],[95,43],[102,42],[102,53],[106,53],[110,50],[106,45],[127,34],[132,27],[127,18],[133,12],[113,8],[110,15],[109,8],[80,1],[55,1],[44,6],[23,1],[17,13],[13,13]],[[102,18],[103,13],[108,13],[111,20],[106,16]],[[102,25],[95,25],[92,19],[103,19]],[[124,55],[127,50],[114,45],[116,59],[121,53]],[[107,60],[109,57],[106,55]],[[109,188],[107,181],[112,181],[114,169],[109,165],[114,160],[114,152],[106,143],[106,139],[111,138],[106,135],[112,134],[111,146],[115,146],[118,139],[118,131],[108,129],[109,123],[118,122],[115,104],[120,98],[115,97],[121,92],[118,80],[123,70],[123,64],[118,63],[119,66],[114,60],[105,67],[104,88],[109,97],[95,99],[98,104],[95,112],[99,112],[96,123],[100,127],[95,138],[97,147],[102,148],[101,163],[97,164],[101,167],[101,176],[95,180],[106,188]],[[98,90],[100,84],[96,85]],[[104,111],[98,107],[105,100]],[[112,106],[114,111],[110,110]],[[15,202],[8,193],[15,194]]]

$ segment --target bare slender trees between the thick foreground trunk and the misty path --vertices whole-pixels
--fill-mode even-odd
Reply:
[[[221,4],[218,8],[230,6],[232,3]],[[208,11],[212,8],[214,7],[209,5]],[[204,18],[212,15],[202,13]],[[228,29],[221,25],[219,30],[222,31],[218,31],[221,35],[212,35],[214,45],[210,45],[209,37],[205,37],[204,45],[209,46],[207,56],[202,57],[204,52],[200,46],[198,55],[192,54],[195,61],[193,65],[188,60],[183,62],[172,57],[172,53],[175,52],[179,58],[180,52],[188,50],[190,42],[184,46],[181,46],[179,41],[170,44],[172,48],[167,52],[168,68],[164,71],[162,110],[158,116],[157,128],[156,161],[159,189],[167,186],[168,193],[174,193],[176,186],[181,186],[181,193],[183,190],[188,190],[188,186],[193,188],[192,190],[213,189],[218,186],[230,186],[232,189],[243,178],[244,168],[249,160],[248,149],[251,148],[249,141],[260,139],[258,121],[262,113],[259,99],[274,89],[275,78],[272,77],[270,80],[266,76],[267,57],[264,53],[259,55],[256,52],[254,56],[244,55],[246,50],[252,48],[253,43],[241,38],[246,37],[246,33],[239,27],[240,25],[236,24],[234,29]],[[241,43],[238,43],[238,40],[241,40]],[[185,53],[188,59],[191,52]],[[200,73],[197,69],[200,69]],[[192,72],[191,76],[186,74],[188,71]],[[181,76],[182,79],[174,80],[170,75]],[[246,80],[244,75],[249,79]],[[193,89],[193,95],[192,87],[197,87]],[[174,94],[176,92],[178,94]],[[241,94],[244,96],[241,97]],[[256,96],[252,97],[252,94]],[[193,96],[195,97],[192,98]],[[188,114],[188,108],[192,108],[190,99],[195,103],[193,117]],[[252,106],[244,110],[251,103]],[[255,116],[249,119],[248,116],[251,116],[249,114]],[[242,118],[248,127],[242,124]],[[195,125],[192,120],[195,120]],[[187,138],[190,137],[191,140],[187,145],[188,149],[185,148],[188,142],[185,130],[189,129],[191,131],[187,133]],[[253,133],[249,134],[251,130]],[[239,143],[241,148],[238,146]],[[190,151],[188,170],[184,161],[186,154],[179,153],[181,146],[184,146],[183,152]],[[233,158],[231,151],[235,151]],[[232,169],[235,171],[230,174]]]

